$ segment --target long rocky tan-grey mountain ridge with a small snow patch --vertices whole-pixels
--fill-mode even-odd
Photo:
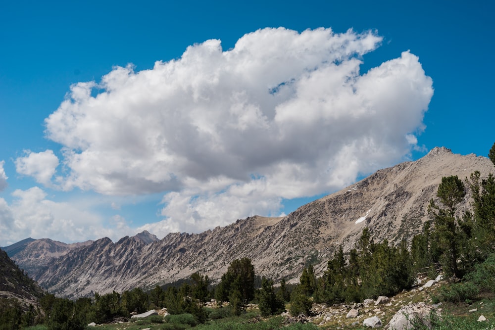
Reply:
[[[437,147],[285,217],[249,217],[200,234],[172,233],[148,244],[132,237],[116,243],[101,238],[52,259],[36,279],[50,292],[79,297],[171,283],[196,271],[218,280],[232,260],[249,257],[256,274],[295,282],[308,262],[321,274],[338,245],[348,251],[364,227],[375,240],[410,240],[428,219],[427,205],[436,198],[442,177],[464,179],[475,170],[486,177],[494,167],[488,158]],[[459,212],[468,207],[466,197]]]

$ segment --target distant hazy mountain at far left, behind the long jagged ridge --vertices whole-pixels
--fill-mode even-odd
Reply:
[[[30,277],[36,278],[38,272],[52,259],[92,243],[92,240],[66,244],[49,238],[26,238],[12,245],[2,247],[2,249],[19,265],[19,268],[26,271]]]

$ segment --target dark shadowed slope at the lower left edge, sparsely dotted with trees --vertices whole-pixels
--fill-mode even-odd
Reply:
[[[27,308],[29,304],[37,305],[38,298],[44,294],[40,286],[31,280],[0,249],[0,310],[17,301]]]

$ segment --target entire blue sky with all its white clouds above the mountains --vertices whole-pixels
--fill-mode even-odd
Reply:
[[[0,246],[282,216],[495,141],[492,1],[2,1]]]

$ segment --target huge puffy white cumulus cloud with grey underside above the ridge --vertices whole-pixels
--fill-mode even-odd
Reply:
[[[149,70],[77,83],[46,119],[69,171],[63,188],[164,192],[164,220],[149,225],[160,233],[276,215],[283,198],[343,188],[415,147],[433,95],[409,51],[359,72],[381,41],[267,28],[229,50],[208,40]],[[50,171],[20,173],[47,183],[51,159]]]

